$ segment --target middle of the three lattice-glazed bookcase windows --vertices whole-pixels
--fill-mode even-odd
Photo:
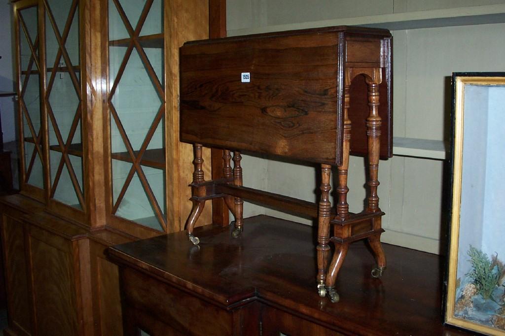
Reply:
[[[46,9],[46,67],[49,174],[56,200],[81,208],[83,190],[79,65],[78,4],[48,0]],[[52,19],[56,27],[51,24]],[[60,36],[61,41],[58,41]],[[70,63],[65,61],[67,54]],[[56,69],[54,69],[56,67]],[[60,141],[58,141],[60,138]],[[68,151],[64,151],[69,144]],[[72,144],[72,146],[70,146]],[[69,161],[70,164],[65,163]]]

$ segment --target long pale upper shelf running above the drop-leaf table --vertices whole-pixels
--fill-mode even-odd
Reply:
[[[505,23],[505,5],[469,6],[428,11],[381,14],[331,20],[228,30],[228,36],[329,26],[365,26],[389,30]]]

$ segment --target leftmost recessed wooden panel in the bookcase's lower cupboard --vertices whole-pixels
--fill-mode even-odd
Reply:
[[[31,334],[30,300],[23,224],[4,214],[2,236],[10,327],[19,334],[29,335]]]

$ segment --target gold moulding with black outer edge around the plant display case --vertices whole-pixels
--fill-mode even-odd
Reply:
[[[505,335],[505,330],[472,322],[455,316],[456,282],[458,267],[458,252],[460,238],[460,210],[463,172],[463,140],[465,117],[465,86],[505,86],[505,73],[453,73],[453,138],[452,140],[452,197],[450,206],[450,240],[449,262],[447,275],[447,290],[445,293],[445,323],[465,329],[490,334]]]

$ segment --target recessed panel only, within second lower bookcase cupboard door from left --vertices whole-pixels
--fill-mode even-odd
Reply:
[[[52,238],[60,240],[49,237]],[[69,246],[62,247],[64,250],[30,237],[34,311],[39,335],[77,334],[72,257]]]

